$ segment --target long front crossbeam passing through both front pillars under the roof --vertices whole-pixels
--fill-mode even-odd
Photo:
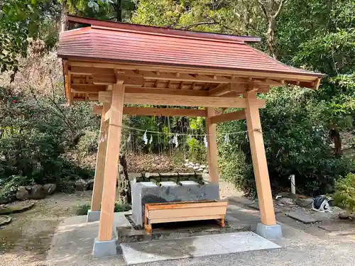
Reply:
[[[99,101],[110,102],[111,92],[99,92]],[[265,107],[265,100],[253,99],[253,104],[258,108]],[[125,104],[153,104],[153,105],[173,105],[173,106],[207,106],[226,108],[246,108],[247,102],[244,98],[223,98],[212,96],[183,96],[160,94],[124,94]]]

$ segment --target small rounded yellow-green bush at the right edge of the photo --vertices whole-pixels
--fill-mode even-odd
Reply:
[[[334,204],[355,211],[355,174],[347,174],[335,183]]]

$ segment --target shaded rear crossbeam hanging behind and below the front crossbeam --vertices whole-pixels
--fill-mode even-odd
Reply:
[[[124,114],[130,116],[206,116],[204,109],[174,109],[174,108],[151,108],[151,107],[124,107]]]

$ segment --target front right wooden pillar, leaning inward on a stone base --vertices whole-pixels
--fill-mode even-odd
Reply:
[[[253,160],[256,190],[258,192],[261,223],[266,226],[272,226],[276,224],[276,219],[273,209],[270,179],[268,176],[263,133],[261,133],[259,109],[254,101],[256,99],[256,92],[246,92],[245,96],[248,100],[248,108],[245,109],[246,124],[249,131],[251,158]]]

